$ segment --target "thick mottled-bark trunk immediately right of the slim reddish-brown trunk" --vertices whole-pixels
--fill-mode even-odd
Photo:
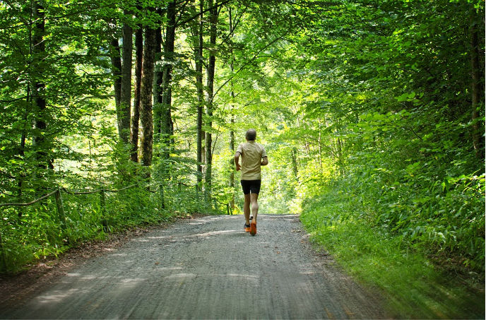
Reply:
[[[143,47],[142,81],[141,81],[141,112],[142,124],[141,164],[152,164],[153,145],[153,115],[152,86],[155,60],[155,30],[145,28],[145,45]]]

